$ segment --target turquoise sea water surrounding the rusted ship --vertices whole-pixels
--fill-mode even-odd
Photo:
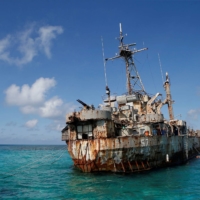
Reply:
[[[0,199],[200,199],[200,159],[145,173],[78,171],[66,146],[0,145]]]

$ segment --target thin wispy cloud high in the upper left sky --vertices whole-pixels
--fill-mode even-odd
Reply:
[[[52,40],[63,33],[61,26],[31,26],[16,35],[7,35],[0,40],[0,60],[22,66],[33,60],[40,52],[51,57]],[[16,56],[11,56],[12,53]]]

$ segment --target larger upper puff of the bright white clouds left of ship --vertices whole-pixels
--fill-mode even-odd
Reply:
[[[15,84],[6,91],[6,103],[8,105],[23,106],[24,112],[29,112],[30,105],[44,102],[45,95],[49,89],[56,85],[54,78],[39,78],[29,86],[23,85],[21,88]],[[33,112],[33,111],[32,111]]]

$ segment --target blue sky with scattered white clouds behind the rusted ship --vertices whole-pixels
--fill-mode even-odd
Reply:
[[[60,130],[76,99],[102,103],[101,36],[105,56],[114,56],[119,23],[125,43],[149,48],[135,55],[146,91],[165,97],[159,53],[174,115],[200,129],[199,10],[199,1],[1,0],[0,144],[64,144]],[[106,67],[111,93],[126,92],[123,61]]]

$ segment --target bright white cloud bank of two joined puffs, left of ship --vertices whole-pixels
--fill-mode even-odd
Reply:
[[[10,106],[18,106],[23,114],[36,114],[43,118],[63,119],[66,112],[76,107],[58,96],[46,99],[47,92],[56,85],[54,78],[39,78],[31,86],[11,85],[5,91],[5,101]]]

